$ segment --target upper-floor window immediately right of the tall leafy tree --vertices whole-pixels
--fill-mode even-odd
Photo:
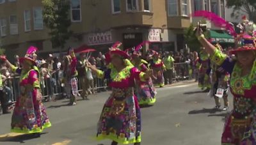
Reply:
[[[81,22],[81,1],[71,0],[72,22]]]

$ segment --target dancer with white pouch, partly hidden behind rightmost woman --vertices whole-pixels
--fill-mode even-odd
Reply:
[[[223,52],[222,47],[217,44],[216,48],[220,50],[220,52]],[[224,101],[224,107],[223,111],[227,111],[228,109],[228,81],[229,81],[229,74],[224,69],[222,69],[220,66],[212,64],[212,96],[215,100],[215,107],[214,109],[220,109],[220,98],[223,98]]]

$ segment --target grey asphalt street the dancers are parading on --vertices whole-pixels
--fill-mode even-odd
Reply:
[[[79,100],[77,106],[66,106],[68,100],[45,103],[52,127],[40,138],[10,133],[12,114],[0,115],[0,144],[111,144],[95,141],[97,121],[108,96],[109,92],[91,95],[90,100]],[[220,144],[227,111],[213,107],[214,99],[195,83],[158,88],[156,104],[141,109],[141,145]]]

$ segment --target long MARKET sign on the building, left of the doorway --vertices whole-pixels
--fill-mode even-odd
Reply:
[[[111,31],[88,35],[88,45],[104,45],[113,43]]]

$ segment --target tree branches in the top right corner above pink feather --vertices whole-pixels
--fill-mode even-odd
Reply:
[[[232,17],[237,17],[241,12],[248,14],[249,19],[256,22],[255,0],[227,0],[228,8],[233,8]]]

